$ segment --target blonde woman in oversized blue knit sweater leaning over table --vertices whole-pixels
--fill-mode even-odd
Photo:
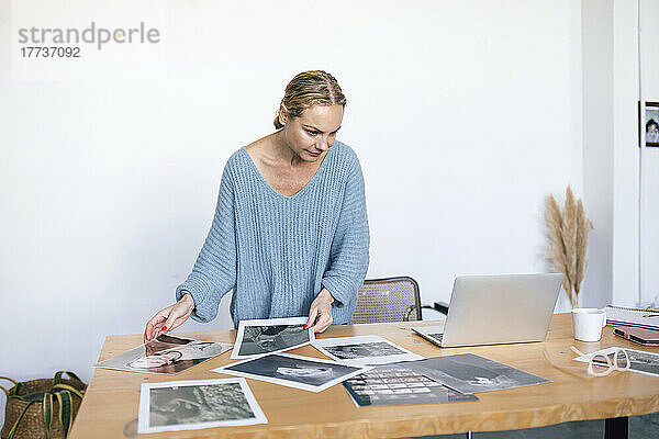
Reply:
[[[364,176],[336,142],[346,98],[322,70],[297,75],[275,119],[277,131],[234,153],[217,207],[177,303],[146,325],[145,342],[192,316],[210,322],[232,289],[242,319],[309,315],[305,328],[349,323],[368,268]]]

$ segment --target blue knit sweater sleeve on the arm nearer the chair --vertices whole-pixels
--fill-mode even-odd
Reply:
[[[359,160],[355,157],[330,250],[330,268],[322,279],[323,286],[336,300],[334,306],[348,305],[356,299],[368,270],[368,249],[369,230],[364,175]]]

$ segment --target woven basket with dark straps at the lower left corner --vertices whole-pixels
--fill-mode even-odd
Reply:
[[[12,379],[0,376],[3,380],[11,381],[14,386],[9,391],[4,387],[1,387],[7,395],[13,394],[16,382]],[[53,386],[53,379],[40,379],[32,380],[25,382],[30,387],[30,393],[37,392],[47,392]],[[79,391],[85,391],[87,385],[77,380],[62,380],[63,384],[68,384]],[[24,387],[19,392],[20,396],[25,396]],[[78,413],[78,408],[80,408],[80,398],[76,395],[72,396],[72,414],[74,419],[76,418],[76,414]],[[13,427],[14,423],[23,413],[23,409],[27,406],[27,402],[16,399],[16,398],[7,398],[7,408],[4,410],[4,426],[2,427],[2,431],[0,431],[0,438],[7,439],[9,437],[9,431]],[[51,423],[51,438],[52,439],[64,439],[64,429],[62,428],[62,423],[59,421],[59,403],[57,398],[53,398],[53,421]],[[42,439],[46,437],[46,425],[44,423],[44,404],[42,402],[37,402],[32,404],[23,419],[21,419],[21,424],[16,429],[16,434],[14,439]]]

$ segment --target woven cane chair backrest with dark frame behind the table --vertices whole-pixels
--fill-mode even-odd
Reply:
[[[421,320],[418,283],[412,278],[367,279],[357,294],[353,323]]]

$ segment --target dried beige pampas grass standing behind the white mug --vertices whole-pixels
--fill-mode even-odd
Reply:
[[[562,211],[554,195],[547,198],[545,221],[549,238],[546,256],[554,264],[554,269],[563,273],[563,290],[572,307],[578,306],[581,282],[588,268],[585,262],[588,233],[593,228],[593,223],[585,216],[581,200],[574,201],[569,185]]]

